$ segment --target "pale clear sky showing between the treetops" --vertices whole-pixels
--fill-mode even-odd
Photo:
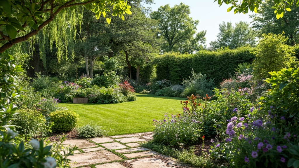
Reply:
[[[217,39],[219,33],[219,24],[222,22],[232,22],[233,25],[239,21],[246,21],[250,23],[252,19],[249,18],[249,14],[234,14],[233,10],[227,12],[227,8],[230,5],[222,4],[219,7],[217,1],[214,0],[155,0],[155,4],[144,4],[145,7],[151,7],[153,11],[157,11],[161,5],[169,4],[173,7],[176,4],[183,2],[190,6],[190,17],[194,20],[199,20],[197,31],[207,30],[206,45],[209,46],[211,41]]]

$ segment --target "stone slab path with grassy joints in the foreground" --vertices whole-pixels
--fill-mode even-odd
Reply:
[[[187,168],[173,158],[141,147],[152,139],[152,132],[103,138],[66,140],[66,146],[77,146],[69,156],[71,167],[82,168]]]

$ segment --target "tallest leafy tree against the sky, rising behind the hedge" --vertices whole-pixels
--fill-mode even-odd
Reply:
[[[205,43],[206,31],[196,34],[199,21],[193,20],[189,14],[189,6],[183,3],[172,8],[169,4],[161,6],[158,11],[150,14],[152,19],[159,21],[158,26],[161,32],[158,36],[164,39],[163,52],[193,53],[202,48],[199,42]]]

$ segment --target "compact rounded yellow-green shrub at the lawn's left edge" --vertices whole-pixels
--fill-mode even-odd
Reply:
[[[69,110],[61,110],[50,113],[50,122],[54,123],[52,126],[53,132],[68,132],[77,125],[79,115]]]

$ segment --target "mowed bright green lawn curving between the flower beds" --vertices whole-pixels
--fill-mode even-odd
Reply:
[[[118,104],[68,104],[61,107],[79,114],[78,126],[95,123],[108,131],[108,135],[151,132],[153,119],[163,120],[165,113],[182,112],[184,98],[136,94],[137,100]]]

